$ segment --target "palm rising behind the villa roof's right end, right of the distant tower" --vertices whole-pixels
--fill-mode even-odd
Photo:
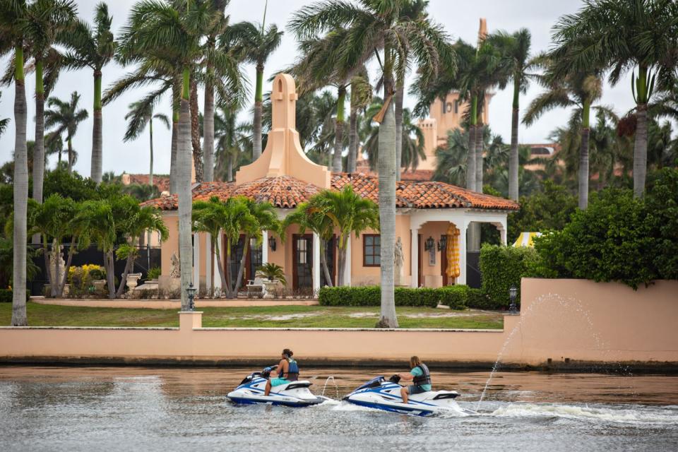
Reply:
[[[530,84],[530,73],[535,62],[530,59],[532,35],[527,28],[513,32],[499,31],[487,38],[506,59],[509,78],[513,82],[513,105],[511,112],[511,157],[509,158],[509,198],[518,201],[518,115],[520,114],[521,93],[525,94]]]

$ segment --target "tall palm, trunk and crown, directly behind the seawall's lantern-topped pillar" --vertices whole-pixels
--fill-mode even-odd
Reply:
[[[179,5],[181,4],[181,5]],[[178,8],[182,6],[181,8]],[[191,241],[191,117],[189,97],[191,73],[200,52],[202,30],[213,19],[211,5],[177,0],[173,4],[142,0],[131,10],[125,34],[129,45],[148,54],[172,54],[174,65],[182,68],[179,133],[177,137],[177,191],[179,194],[179,262],[182,309],[188,309],[184,290],[193,278]]]

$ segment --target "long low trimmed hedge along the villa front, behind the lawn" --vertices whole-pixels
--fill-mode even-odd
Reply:
[[[472,289],[465,285],[452,285],[436,289],[396,287],[396,306],[434,308],[438,304],[445,304],[451,309],[465,309],[471,292]],[[318,300],[322,306],[379,306],[381,304],[381,289],[379,286],[322,287]]]

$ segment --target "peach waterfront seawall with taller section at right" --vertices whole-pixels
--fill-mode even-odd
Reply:
[[[634,292],[616,283],[525,279],[520,316],[503,331],[201,328],[0,328],[0,361],[388,362],[420,355],[438,364],[584,367],[618,362],[678,368],[678,281]],[[549,359],[551,362],[549,363]]]

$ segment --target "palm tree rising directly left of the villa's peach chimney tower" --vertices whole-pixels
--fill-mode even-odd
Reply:
[[[268,6],[268,1],[267,1]],[[258,159],[261,155],[261,113],[263,111],[263,67],[275,49],[280,46],[283,32],[278,31],[275,24],[268,25],[266,28],[266,7],[263,10],[263,22],[251,23],[240,22],[232,25],[227,30],[227,35],[235,42],[235,52],[239,54],[244,61],[249,61],[256,65],[256,91],[254,93],[254,143],[252,150],[252,160]]]

